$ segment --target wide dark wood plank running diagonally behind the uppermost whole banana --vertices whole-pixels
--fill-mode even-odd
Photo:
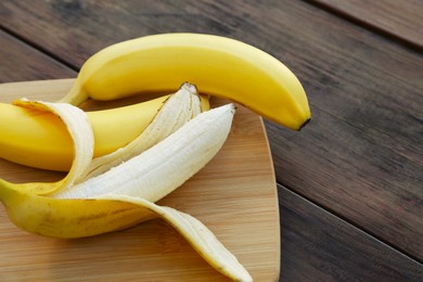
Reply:
[[[0,23],[75,67],[110,43],[167,31],[272,53],[313,113],[300,133],[267,124],[278,181],[423,258],[421,54],[303,1],[257,3],[2,1]]]

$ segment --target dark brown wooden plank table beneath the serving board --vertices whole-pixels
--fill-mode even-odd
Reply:
[[[100,49],[222,35],[284,62],[312,121],[266,121],[282,281],[423,281],[420,0],[0,2],[0,82],[75,77]]]

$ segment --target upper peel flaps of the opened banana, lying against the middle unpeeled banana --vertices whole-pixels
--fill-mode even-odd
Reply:
[[[66,103],[16,100],[16,105],[37,111],[50,111],[64,123],[74,143],[75,157],[67,176],[53,183],[21,183],[20,189],[38,195],[46,195],[64,190],[108,170],[120,163],[142,153],[170,133],[179,129],[201,112],[196,88],[184,84],[178,92],[170,95],[163,104],[145,130],[129,144],[104,156],[93,157],[94,140],[87,115],[78,107]],[[128,165],[126,165],[128,166]],[[129,168],[130,170],[130,168]],[[126,174],[121,171],[121,174]],[[119,178],[119,177],[117,177]]]

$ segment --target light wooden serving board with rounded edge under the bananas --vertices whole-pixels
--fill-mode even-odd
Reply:
[[[73,81],[3,84],[0,85],[0,102],[21,97],[54,101],[64,95]],[[225,102],[211,99],[213,105]],[[0,178],[9,181],[53,181],[63,176],[0,158]],[[231,133],[219,154],[158,204],[200,219],[238,257],[255,281],[278,280],[277,185],[266,131],[256,114],[239,106]],[[2,205],[0,273],[1,281],[227,280],[161,219],[120,232],[57,240],[17,229],[10,222]]]

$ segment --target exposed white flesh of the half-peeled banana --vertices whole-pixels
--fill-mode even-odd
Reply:
[[[150,150],[54,197],[91,198],[114,193],[156,202],[217,154],[230,131],[233,112],[229,104],[202,113]]]

